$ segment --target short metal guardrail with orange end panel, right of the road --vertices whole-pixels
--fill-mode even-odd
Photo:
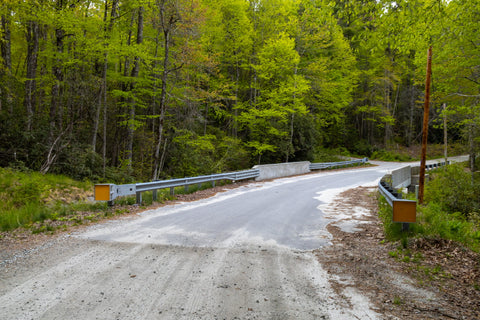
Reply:
[[[393,222],[404,223],[404,229],[408,229],[406,223],[416,222],[417,202],[415,200],[402,199],[402,194],[393,190],[388,183],[380,180],[378,183],[380,194],[385,197],[387,203],[393,208]]]

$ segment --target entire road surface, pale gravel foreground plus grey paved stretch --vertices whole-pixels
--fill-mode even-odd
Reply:
[[[0,267],[0,319],[376,319],[351,279],[330,287],[341,191],[399,164],[252,183],[61,238]],[[355,212],[352,212],[354,216]]]

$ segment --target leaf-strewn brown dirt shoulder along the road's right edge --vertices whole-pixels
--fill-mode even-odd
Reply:
[[[333,205],[336,211],[362,206],[371,214],[362,216],[356,232],[327,227],[332,246],[316,255],[338,277],[332,286],[342,292],[353,282],[386,319],[480,319],[480,255],[451,241],[414,239],[408,250],[386,241],[372,194],[375,188],[351,189]]]

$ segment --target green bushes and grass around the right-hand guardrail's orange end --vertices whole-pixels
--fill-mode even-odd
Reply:
[[[417,207],[417,223],[410,231],[401,231],[392,222],[392,209],[380,202],[380,217],[390,240],[413,237],[436,237],[454,240],[480,251],[480,178],[472,183],[463,165],[437,169],[425,186],[425,204]]]

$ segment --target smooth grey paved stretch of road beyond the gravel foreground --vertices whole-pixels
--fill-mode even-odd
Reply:
[[[84,238],[128,243],[228,248],[248,244],[312,250],[328,243],[317,207],[341,190],[375,185],[398,164],[355,171],[321,172],[256,183],[217,197],[146,212],[112,223]]]

